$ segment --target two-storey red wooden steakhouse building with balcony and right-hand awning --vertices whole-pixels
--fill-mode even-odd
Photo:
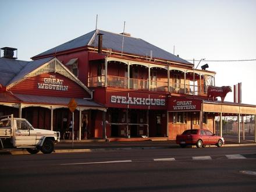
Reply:
[[[215,85],[215,72],[194,69],[127,33],[94,30],[32,59],[49,57],[69,69],[106,109],[97,115],[87,111],[93,138],[175,139],[186,129],[214,131],[215,116],[256,114],[253,105],[209,101],[207,87]]]

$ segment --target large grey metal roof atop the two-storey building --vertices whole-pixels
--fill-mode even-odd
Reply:
[[[55,52],[67,51],[70,49],[76,49],[80,47],[98,47],[97,34],[99,33],[104,34],[102,38],[102,47],[104,49],[112,49],[112,51],[122,52],[123,43],[123,53],[126,54],[150,57],[150,54],[152,52],[152,58],[164,59],[167,61],[193,65],[192,63],[182,58],[179,58],[176,55],[170,54],[168,51],[165,51],[155,45],[152,45],[149,42],[142,40],[141,38],[134,38],[127,35],[111,33],[103,30],[91,31],[90,33],[77,37],[74,40],[67,41],[64,44],[61,44],[55,48],[42,52],[41,54],[38,54],[33,58],[37,58],[38,56],[51,55]]]

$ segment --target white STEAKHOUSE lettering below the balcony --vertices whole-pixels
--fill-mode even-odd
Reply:
[[[117,95],[111,95],[111,102],[117,104],[165,106],[165,99],[125,97]]]

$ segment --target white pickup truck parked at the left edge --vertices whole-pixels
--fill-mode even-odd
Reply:
[[[58,131],[34,129],[22,118],[13,118],[13,115],[0,116],[0,142],[8,141],[15,148],[26,148],[30,154],[41,151],[50,154],[54,151],[54,143],[59,142]]]

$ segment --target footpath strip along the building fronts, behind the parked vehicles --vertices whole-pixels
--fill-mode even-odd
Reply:
[[[253,140],[243,140],[240,143],[233,140],[225,141],[222,147],[239,147],[255,146]],[[195,146],[193,146],[195,147]],[[208,147],[208,146],[207,146]],[[211,145],[211,147],[215,147]],[[180,148],[175,140],[145,140],[145,141],[105,141],[105,140],[61,140],[55,145],[53,153],[70,153],[70,152],[93,152],[93,151],[111,151],[111,150],[150,150],[162,148]],[[40,152],[39,152],[40,153]],[[0,149],[0,155],[22,155],[29,154],[26,149],[3,148]]]

